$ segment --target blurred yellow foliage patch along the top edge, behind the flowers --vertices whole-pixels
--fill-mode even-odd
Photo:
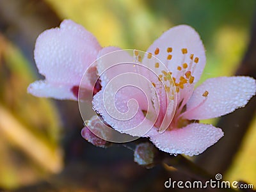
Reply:
[[[72,19],[92,32],[102,46],[146,51],[157,36],[172,26],[167,19],[155,17],[142,0],[45,1],[60,18]]]

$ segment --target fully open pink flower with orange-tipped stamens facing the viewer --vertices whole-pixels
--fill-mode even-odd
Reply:
[[[116,50],[118,50],[116,47],[106,47],[100,51],[99,56],[106,57],[106,53]],[[164,152],[188,156],[204,152],[206,148],[220,140],[223,132],[213,125],[200,124],[199,120],[231,113],[245,106],[255,95],[256,83],[252,77],[216,77],[207,79],[195,88],[195,83],[204,70],[205,50],[200,36],[189,26],[176,26],[166,31],[148,48],[147,52],[142,63],[154,66],[154,72],[159,79],[148,75],[141,66],[120,65],[108,68],[108,58],[103,57],[99,60],[97,66],[99,74],[106,68],[108,71],[100,76],[102,90],[94,95],[93,108],[116,131],[132,136],[149,137],[156,147]],[[152,55],[161,60],[168,70],[159,66]],[[120,58],[114,57],[114,60],[116,60],[114,63],[118,63]],[[131,59],[128,54],[127,56],[124,54],[122,60],[129,62]],[[116,86],[119,86],[121,81],[132,81],[134,84],[138,81],[143,82],[143,78],[138,80],[129,73],[132,71],[139,71],[139,74],[147,77],[156,87],[156,92],[152,92],[152,88],[149,88],[145,82],[140,86],[144,93],[134,87],[125,87],[116,92]],[[115,81],[118,74],[124,75],[122,80]],[[164,87],[167,95],[163,93]],[[172,88],[177,90],[177,98]],[[158,107],[156,93],[159,97]],[[134,99],[138,105],[133,102]],[[177,108],[173,111],[175,102]],[[127,111],[132,111],[135,115],[129,116]],[[146,118],[145,113],[149,114]],[[152,122],[156,115],[156,122]],[[172,117],[167,129],[162,130],[163,122],[165,120],[168,122]],[[150,126],[152,129],[145,134]]]

